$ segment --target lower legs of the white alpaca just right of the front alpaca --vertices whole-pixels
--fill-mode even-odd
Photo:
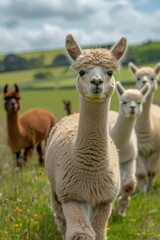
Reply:
[[[131,194],[135,191],[137,181],[136,181],[136,160],[132,159],[130,161],[120,164],[121,173],[121,197],[118,201],[118,214],[125,216],[126,209],[129,204]]]

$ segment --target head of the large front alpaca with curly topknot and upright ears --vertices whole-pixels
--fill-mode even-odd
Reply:
[[[72,68],[78,72],[77,90],[88,101],[104,101],[115,88],[113,72],[119,68],[119,60],[125,53],[127,41],[121,38],[111,49],[81,50],[72,35],[66,38],[66,49],[73,60]]]

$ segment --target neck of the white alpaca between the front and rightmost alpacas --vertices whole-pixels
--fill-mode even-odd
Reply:
[[[135,118],[126,118],[119,112],[117,121],[111,129],[111,136],[117,147],[128,144],[134,124]]]

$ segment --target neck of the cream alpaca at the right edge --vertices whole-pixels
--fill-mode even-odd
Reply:
[[[137,118],[136,121],[136,131],[137,132],[151,132],[151,121],[150,121],[150,109],[152,103],[153,95],[149,95],[146,102],[143,104],[143,112]]]

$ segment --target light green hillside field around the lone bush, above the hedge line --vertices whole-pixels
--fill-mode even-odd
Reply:
[[[155,64],[149,64],[154,67]],[[50,71],[53,78],[49,80],[34,80],[34,74],[39,71]],[[114,74],[115,79],[121,82],[133,81],[133,76],[128,68],[122,67],[119,72]],[[76,73],[69,67],[57,67],[47,69],[32,69],[15,72],[0,73],[0,88],[8,84],[17,83],[22,88],[47,88],[47,87],[62,87],[74,86]]]

